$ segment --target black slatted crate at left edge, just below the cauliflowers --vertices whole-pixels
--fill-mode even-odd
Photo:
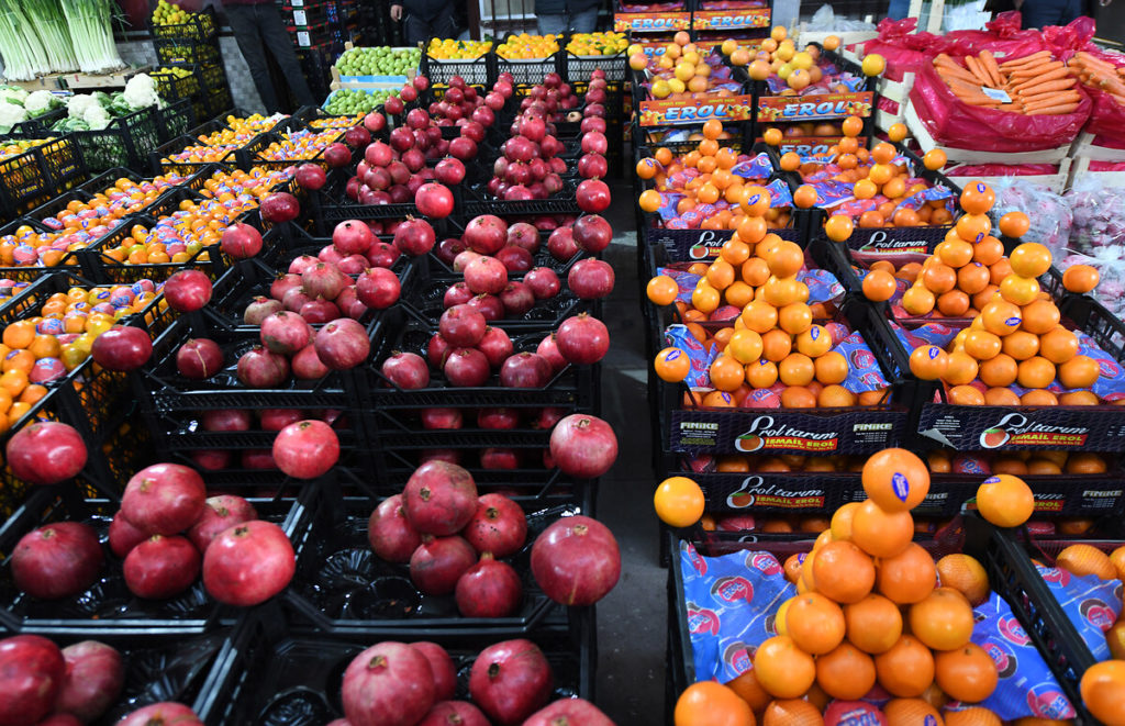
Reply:
[[[88,176],[82,149],[72,136],[52,138],[0,161],[0,215],[15,218]]]

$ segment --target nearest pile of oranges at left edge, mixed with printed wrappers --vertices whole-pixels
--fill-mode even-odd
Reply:
[[[0,434],[46,394],[47,384],[86,362],[99,335],[144,311],[158,292],[151,280],[71,288],[48,297],[38,315],[7,325],[0,335]]]

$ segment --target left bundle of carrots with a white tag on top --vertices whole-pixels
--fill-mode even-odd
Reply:
[[[1025,116],[1072,114],[1081,94],[1078,81],[1048,51],[997,63],[988,51],[966,55],[961,64],[946,54],[934,58],[934,70],[953,93],[972,106]],[[1004,91],[1008,101],[989,96],[984,89]],[[999,94],[997,94],[999,96]]]

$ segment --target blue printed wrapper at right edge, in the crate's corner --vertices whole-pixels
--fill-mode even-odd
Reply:
[[[1098,661],[1110,657],[1106,630],[1122,612],[1122,581],[1096,574],[1074,575],[1060,568],[1035,565],[1051,593]]]

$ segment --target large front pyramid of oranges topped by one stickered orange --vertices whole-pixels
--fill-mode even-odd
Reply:
[[[884,450],[864,465],[863,488],[865,501],[837,509],[812,551],[785,561],[798,595],[778,608],[777,635],[752,654],[753,669],[727,686],[690,687],[676,705],[677,726],[704,723],[692,717],[705,699],[712,713],[731,716],[723,724],[824,724],[830,701],[860,700],[876,684],[891,700],[883,719],[864,723],[1000,723],[979,707],[938,711],[952,700],[983,701],[999,677],[970,639],[973,606],[990,593],[984,569],[964,554],[935,562],[912,542],[910,510],[929,491],[926,464]]]

